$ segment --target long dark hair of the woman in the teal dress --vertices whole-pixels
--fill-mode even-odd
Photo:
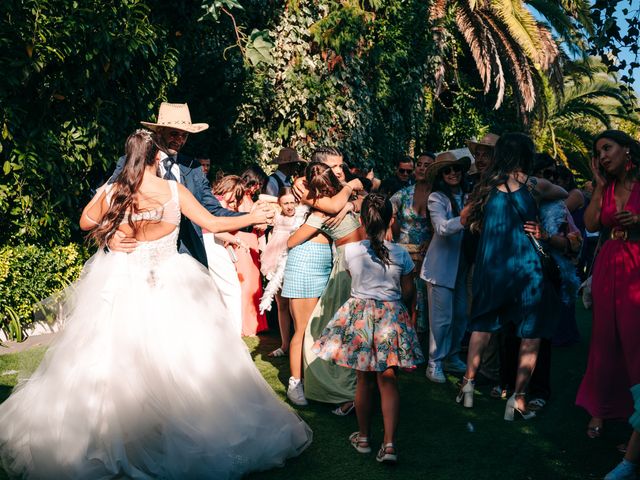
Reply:
[[[506,133],[500,136],[493,152],[493,161],[469,196],[472,205],[468,224],[472,232],[482,230],[484,209],[494,188],[509,179],[509,174],[521,171],[531,174],[535,155],[533,140],[524,133]]]

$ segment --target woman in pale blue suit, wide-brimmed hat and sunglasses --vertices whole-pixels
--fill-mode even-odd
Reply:
[[[429,303],[429,364],[427,378],[445,383],[445,371],[464,373],[467,366],[459,353],[467,327],[467,263],[461,252],[464,227],[460,211],[466,193],[464,176],[469,157],[457,159],[451,152],[436,157],[427,169],[432,184],[429,218],[433,238],[420,277],[427,283]]]

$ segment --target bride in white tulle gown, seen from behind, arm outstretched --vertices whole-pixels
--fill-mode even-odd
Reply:
[[[65,302],[65,328],[0,405],[2,468],[28,478],[226,479],[282,465],[311,430],[255,368],[206,270],[176,249],[181,212],[211,232],[272,214],[256,205],[213,217],[156,175],[153,134],[137,130],[125,148],[123,172],[82,214],[101,248]],[[103,251],[118,230],[138,240],[133,253]]]

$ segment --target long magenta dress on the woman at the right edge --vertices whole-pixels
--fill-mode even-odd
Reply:
[[[600,221],[620,229],[614,187],[604,191]],[[634,183],[624,209],[640,214],[640,182]],[[576,404],[594,417],[628,417],[633,412],[629,389],[640,384],[640,241],[606,240],[592,282],[591,347]]]

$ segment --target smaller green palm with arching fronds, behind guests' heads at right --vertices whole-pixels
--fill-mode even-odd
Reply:
[[[640,125],[638,116],[629,113],[636,100],[595,58],[568,63],[566,70],[563,94],[548,97],[547,116],[532,133],[540,151],[589,175],[591,143],[600,131],[621,120]]]

